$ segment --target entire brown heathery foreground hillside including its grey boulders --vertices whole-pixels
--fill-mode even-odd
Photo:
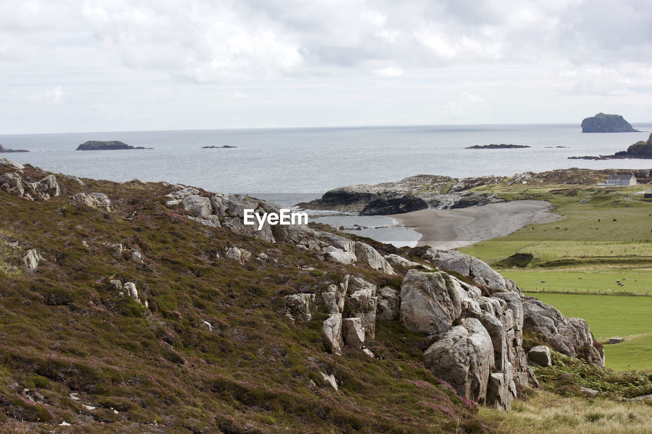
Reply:
[[[273,203],[5,159],[0,197],[3,423],[460,432],[551,349],[604,366],[585,321],[462,253],[258,231],[244,210]]]

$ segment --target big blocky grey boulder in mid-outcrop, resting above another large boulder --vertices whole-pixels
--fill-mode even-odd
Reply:
[[[445,272],[409,270],[401,285],[400,321],[417,333],[438,334],[462,313],[466,293]]]

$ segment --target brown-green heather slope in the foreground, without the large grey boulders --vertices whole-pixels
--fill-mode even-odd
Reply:
[[[349,348],[334,356],[321,321],[294,325],[283,315],[283,296],[300,289],[322,289],[345,274],[389,278],[192,222],[165,207],[164,184],[59,181],[62,195],[48,201],[0,192],[3,426],[80,433],[482,426],[475,404],[423,368],[423,336],[378,321],[368,347],[379,358]],[[82,190],[107,194],[113,212],[73,205],[69,196]],[[230,246],[269,261],[222,259]],[[34,272],[20,263],[31,248],[44,258]],[[149,308],[110,280],[135,283]],[[338,390],[325,380],[331,374]]]

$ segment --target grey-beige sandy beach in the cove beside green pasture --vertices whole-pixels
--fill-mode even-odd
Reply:
[[[511,201],[462,209],[424,209],[388,217],[421,233],[417,245],[446,250],[504,237],[526,225],[558,220],[559,214],[550,209],[546,201]]]

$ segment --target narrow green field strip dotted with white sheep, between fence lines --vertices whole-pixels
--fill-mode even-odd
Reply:
[[[652,265],[652,263],[651,263]],[[584,270],[539,271],[499,270],[506,278],[514,280],[522,291],[553,291],[564,293],[628,293],[652,295],[652,270]],[[582,279],[580,279],[582,277]],[[545,280],[545,283],[541,281]],[[620,280],[623,286],[616,281]],[[651,297],[652,298],[652,297]],[[652,332],[652,330],[651,330]]]

